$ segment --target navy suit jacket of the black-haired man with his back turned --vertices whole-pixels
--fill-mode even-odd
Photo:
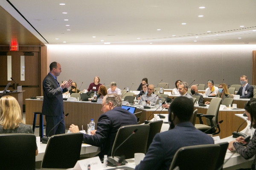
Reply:
[[[169,170],[180,147],[214,144],[212,137],[197,130],[191,122],[179,123],[172,130],[157,133],[143,161],[135,170]]]

